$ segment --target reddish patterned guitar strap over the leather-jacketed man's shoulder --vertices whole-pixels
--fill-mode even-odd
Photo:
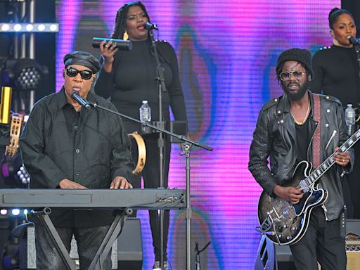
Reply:
[[[317,128],[315,130],[314,139],[312,142],[312,165],[314,168],[319,167],[321,164],[320,159],[320,135],[321,135],[321,105],[320,105],[320,96],[317,94],[312,94],[314,101],[314,120],[318,122]]]

